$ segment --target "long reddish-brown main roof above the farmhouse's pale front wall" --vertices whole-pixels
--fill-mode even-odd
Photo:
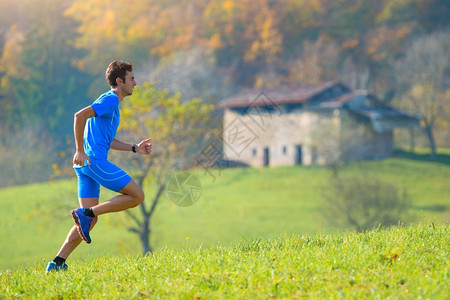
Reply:
[[[350,89],[348,89],[339,81],[329,81],[313,86],[284,86],[262,90],[247,89],[235,96],[221,101],[219,103],[219,108],[262,106],[269,103],[305,103],[314,96],[319,95],[320,93],[334,86],[341,86],[343,89],[350,91]]]

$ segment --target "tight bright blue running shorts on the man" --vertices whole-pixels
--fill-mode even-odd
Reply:
[[[131,181],[130,175],[107,160],[74,169],[78,176],[78,197],[80,198],[99,197],[100,185],[119,192]]]

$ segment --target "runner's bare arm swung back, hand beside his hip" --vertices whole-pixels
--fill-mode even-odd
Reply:
[[[86,126],[86,121],[89,118],[95,116],[95,111],[92,107],[87,106],[82,110],[78,111],[74,115],[73,121],[73,134],[75,136],[75,147],[76,152],[73,156],[73,163],[76,165],[84,166],[84,161],[87,160],[89,164],[91,164],[91,160],[89,156],[84,152],[83,145],[83,134],[84,127]]]

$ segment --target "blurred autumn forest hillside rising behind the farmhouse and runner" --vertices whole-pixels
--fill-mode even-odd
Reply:
[[[422,115],[423,145],[449,147],[449,53],[447,0],[0,0],[0,186],[68,159],[72,116],[114,59],[212,104],[340,79]]]

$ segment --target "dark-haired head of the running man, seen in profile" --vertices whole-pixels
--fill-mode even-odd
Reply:
[[[113,89],[119,89],[123,96],[133,93],[136,85],[133,75],[133,65],[123,61],[113,61],[106,69],[106,81]]]

